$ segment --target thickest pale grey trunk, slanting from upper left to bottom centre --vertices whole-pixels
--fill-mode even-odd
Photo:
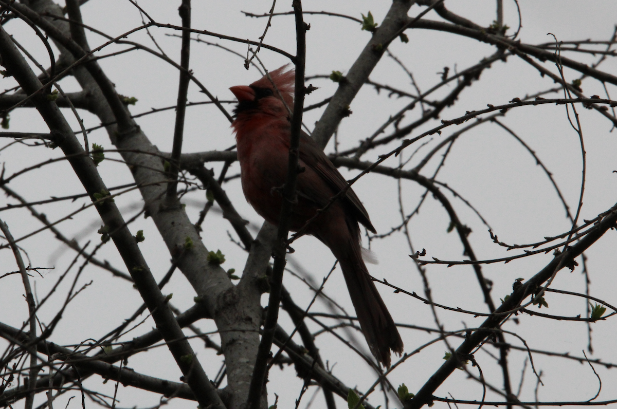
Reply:
[[[41,0],[36,2],[36,7],[44,10],[48,4],[51,4],[51,1]],[[53,23],[61,28],[58,29],[60,32],[51,30],[54,36],[64,36],[68,31],[68,24],[62,20],[53,20]],[[62,41],[67,40],[63,38]],[[66,58],[74,60],[75,56],[68,55]],[[145,202],[146,215],[154,220],[172,256],[177,254],[185,243],[193,244],[178,268],[217,324],[228,368],[228,389],[232,394],[230,405],[240,405],[238,402],[246,401],[252,371],[251,360],[259,344],[259,289],[256,286],[233,286],[225,270],[208,261],[208,250],[184,209],[163,209],[161,204],[165,189],[159,182],[164,169],[160,159],[155,156],[158,150],[132,119],[126,124],[115,117],[116,113],[110,108],[109,99],[101,91],[104,88],[101,81],[109,80],[91,75],[81,67],[75,68],[75,78],[85,91],[93,94],[94,112],[99,120],[106,124],[118,123],[118,128],[114,125],[107,126],[107,132],[132,171]],[[122,109],[125,110],[124,115],[130,118],[128,109],[124,106]],[[238,322],[238,316],[246,319]]]

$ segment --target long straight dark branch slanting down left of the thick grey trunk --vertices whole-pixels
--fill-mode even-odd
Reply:
[[[2,56],[2,64],[15,77],[15,80],[19,82],[26,93],[39,93],[39,89],[42,89],[43,85],[12,44],[10,36],[3,28],[0,28],[0,55]],[[69,157],[68,162],[72,165],[93,201],[99,201],[99,197],[96,197],[95,194],[102,197],[108,196],[109,191],[96,170],[94,162],[84,155],[75,134],[73,134],[58,107],[40,93],[33,97],[33,101],[50,130],[59,135],[56,138],[58,146]],[[173,313],[168,308],[165,296],[160,292],[135,238],[126,227],[122,214],[115,203],[112,200],[102,200],[98,202],[96,209],[105,225],[109,226],[109,236],[114,241],[126,268],[130,271],[144,302],[148,305],[157,327],[164,334],[170,352],[172,352],[176,363],[183,372],[186,382],[197,396],[198,402],[202,407],[213,405],[223,408],[223,403],[209,379],[205,376],[191,345],[184,337],[182,329],[178,326]]]

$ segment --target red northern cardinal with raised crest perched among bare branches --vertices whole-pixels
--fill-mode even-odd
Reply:
[[[294,70],[286,65],[270,73],[283,96],[278,96],[267,76],[249,86],[233,86],[238,98],[231,126],[236,133],[242,190],[246,200],[265,220],[278,225],[281,186],[286,181],[294,105]],[[298,231],[318,209],[343,189],[347,182],[309,135],[300,135],[297,204],[292,207],[290,229]],[[371,352],[390,366],[390,350],[403,352],[403,342],[366,265],[362,260],[360,226],[376,233],[366,209],[352,189],[336,200],[307,226],[306,232],[320,239],[339,260],[360,327]]]

